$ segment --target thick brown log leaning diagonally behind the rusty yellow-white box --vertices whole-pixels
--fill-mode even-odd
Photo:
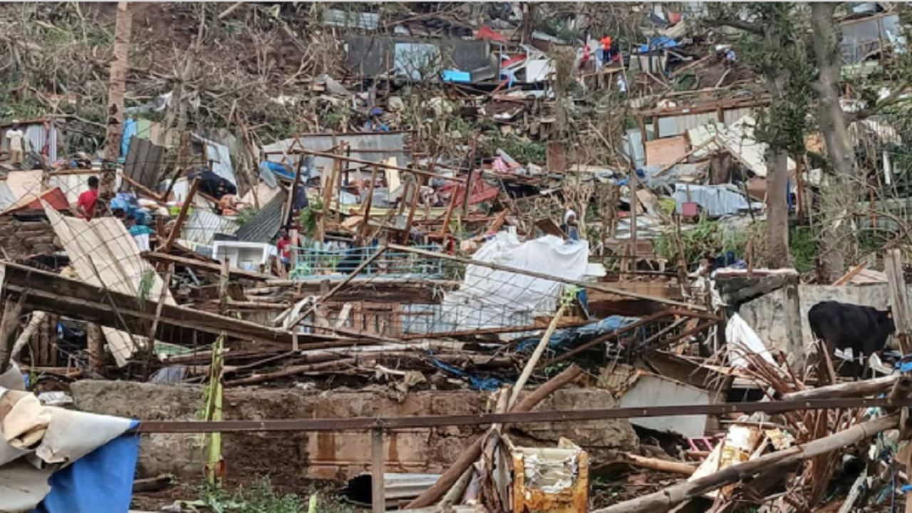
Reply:
[[[512,412],[530,412],[538,403],[541,403],[545,397],[553,393],[555,390],[560,389],[565,384],[574,381],[583,373],[583,370],[576,365],[571,365],[567,367],[564,372],[557,374],[554,378],[551,378],[533,393],[526,395],[522,401],[516,403],[513,406]],[[472,445],[469,445],[456,459],[455,462],[443,473],[442,476],[437,480],[433,486],[421,492],[421,495],[416,497],[414,500],[409,502],[409,505],[406,506],[407,509],[417,509],[417,508],[427,508],[431,504],[437,502],[440,497],[443,497],[445,493],[459,480],[462,473],[465,472],[475,460],[478,459],[478,456],[482,454],[482,443],[484,441],[484,435],[478,436],[475,438],[475,441],[472,442]]]

